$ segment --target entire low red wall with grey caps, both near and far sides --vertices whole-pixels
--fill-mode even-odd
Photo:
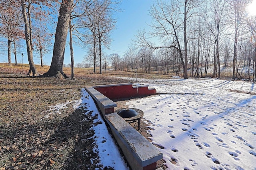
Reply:
[[[101,90],[96,90],[97,87],[105,89],[105,91],[107,91],[106,89],[110,90],[116,87],[118,87],[116,89],[117,91],[118,89],[130,89],[130,87],[132,87],[132,83],[127,84],[105,85],[105,87],[107,88],[102,88],[102,86],[85,87],[85,89],[97,103],[101,113],[104,116],[104,119],[110,126],[112,134],[114,135],[116,141],[118,142],[118,145],[122,149],[124,156],[132,170],[155,170],[157,161],[162,159],[163,157],[162,153],[153,144],[146,140],[144,136],[137,132],[137,130],[132,128],[130,124],[128,124],[122,117],[120,117],[117,113],[113,113],[114,107],[117,107],[116,103],[100,93]],[[132,89],[134,88],[132,87]],[[146,86],[146,89],[148,89],[148,86]],[[115,90],[112,89],[112,93],[114,93],[114,91]],[[152,89],[152,91],[156,93],[155,89]],[[127,91],[127,93],[128,92],[129,91]],[[120,95],[117,95],[119,93],[114,94],[120,97]],[[143,94],[145,95],[145,93]],[[111,96],[109,97],[111,98]]]

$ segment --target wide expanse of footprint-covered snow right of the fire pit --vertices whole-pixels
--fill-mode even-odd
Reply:
[[[256,170],[256,95],[230,91],[256,93],[253,83],[210,78],[139,83],[170,93],[126,103],[152,123],[148,133],[162,146],[168,169]]]

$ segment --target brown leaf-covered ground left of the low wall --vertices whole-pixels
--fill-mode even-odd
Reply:
[[[49,69],[37,68],[40,74]],[[75,69],[77,81],[28,77],[22,71],[28,66],[0,64],[0,170],[95,169],[90,161],[97,160],[90,130],[94,118],[74,110],[72,101],[85,86],[126,81],[86,69]],[[51,106],[60,103],[66,107],[51,114]]]

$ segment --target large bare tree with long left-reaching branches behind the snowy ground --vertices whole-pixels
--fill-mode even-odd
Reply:
[[[200,0],[157,0],[156,4],[150,8],[150,15],[154,20],[150,26],[154,32],[146,34],[141,31],[136,35],[136,42],[139,45],[153,49],[174,48],[178,50],[185,79],[188,78],[187,28],[191,18],[196,15],[196,8],[201,4]],[[180,34],[181,32],[183,34]],[[164,42],[170,42],[170,45],[155,46],[149,41],[150,38],[155,36],[163,38]],[[182,44],[184,45],[183,48]]]

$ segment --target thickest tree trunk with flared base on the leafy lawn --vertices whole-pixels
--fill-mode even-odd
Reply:
[[[45,76],[56,76],[57,71],[60,71],[60,73],[67,78],[63,73],[62,67],[69,28],[70,9],[73,1],[74,0],[62,0],[55,34],[52,63],[50,65],[50,69],[44,73]]]

